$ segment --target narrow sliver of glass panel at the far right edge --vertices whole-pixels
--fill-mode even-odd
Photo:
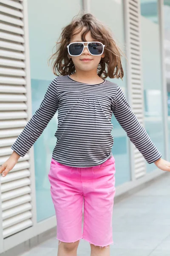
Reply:
[[[168,106],[168,135],[170,152],[170,0],[164,0],[164,56],[165,56],[165,75],[167,81],[167,106]],[[168,154],[170,161],[170,154]]]

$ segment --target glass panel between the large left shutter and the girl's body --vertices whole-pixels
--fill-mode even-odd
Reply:
[[[48,85],[55,78],[47,63],[55,42],[62,32],[62,27],[68,24],[80,9],[82,9],[80,0],[67,1],[66,5],[64,1],[56,0],[28,1],[32,114],[39,108]],[[56,130],[57,113],[34,144],[37,221],[55,215],[48,172],[56,144],[54,137]]]

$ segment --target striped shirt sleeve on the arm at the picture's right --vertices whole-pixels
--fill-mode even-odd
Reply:
[[[125,94],[119,86],[117,88],[112,111],[119,124],[126,131],[130,141],[142,153],[147,163],[153,163],[161,158],[161,153],[153,144],[136,115],[131,111]]]

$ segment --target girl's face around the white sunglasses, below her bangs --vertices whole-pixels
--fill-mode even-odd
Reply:
[[[85,40],[87,42],[90,41],[96,41],[94,38],[91,36],[91,32],[89,31],[85,35]],[[73,42],[82,42],[81,40],[81,32],[79,34],[72,36],[70,43]],[[85,46],[87,46],[87,43],[84,43]],[[104,58],[105,55],[104,53],[102,55],[94,56],[91,55],[91,53],[88,51],[87,47],[85,47],[84,51],[82,52],[81,55],[79,56],[70,56],[72,58],[72,61],[74,63],[75,69],[83,70],[83,71],[89,71],[89,70],[97,70],[97,67],[99,65],[99,62],[101,58]],[[83,59],[90,59],[89,61],[83,61]]]

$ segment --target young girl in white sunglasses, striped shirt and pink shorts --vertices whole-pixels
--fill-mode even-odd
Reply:
[[[115,195],[112,113],[148,163],[164,171],[170,171],[170,163],[161,159],[121,88],[106,80],[123,78],[120,50],[111,31],[85,14],[65,26],[59,44],[53,55],[57,77],[11,146],[14,152],[0,173],[6,176],[20,156],[25,156],[58,110],[57,144],[48,174],[57,218],[58,256],[76,256],[82,238],[91,244],[91,256],[109,256]]]

